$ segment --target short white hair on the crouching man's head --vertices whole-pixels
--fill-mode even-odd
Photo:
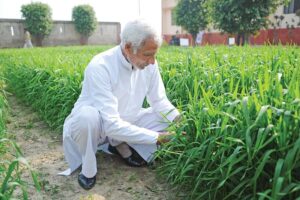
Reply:
[[[143,19],[136,19],[128,22],[121,32],[121,46],[124,49],[126,44],[131,44],[133,53],[144,45],[146,39],[151,38],[161,45],[161,37],[148,22]]]

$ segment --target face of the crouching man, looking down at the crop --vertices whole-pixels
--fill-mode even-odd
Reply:
[[[158,45],[153,39],[146,39],[144,45],[135,52],[133,47],[125,47],[127,59],[137,69],[145,69],[149,64],[155,63],[155,55],[158,51]]]

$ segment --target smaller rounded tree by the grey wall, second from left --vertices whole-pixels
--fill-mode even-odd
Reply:
[[[72,20],[76,31],[81,35],[80,43],[87,44],[88,38],[95,31],[97,25],[93,7],[90,5],[75,6],[72,11]]]

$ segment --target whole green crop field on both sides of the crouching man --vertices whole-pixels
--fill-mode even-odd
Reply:
[[[61,137],[84,68],[108,48],[1,50],[5,90]],[[298,47],[162,47],[157,60],[168,97],[184,116],[157,153],[157,172],[177,198],[300,197]]]

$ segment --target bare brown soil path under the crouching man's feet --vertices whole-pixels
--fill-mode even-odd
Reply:
[[[25,158],[38,173],[42,191],[36,192],[29,173],[29,199],[106,199],[106,200],[176,200],[182,199],[151,167],[132,168],[115,155],[97,152],[97,182],[91,190],[77,182],[79,171],[59,176],[68,168],[64,160],[62,134],[51,130],[28,106],[16,97],[8,97],[10,116],[7,124]]]

